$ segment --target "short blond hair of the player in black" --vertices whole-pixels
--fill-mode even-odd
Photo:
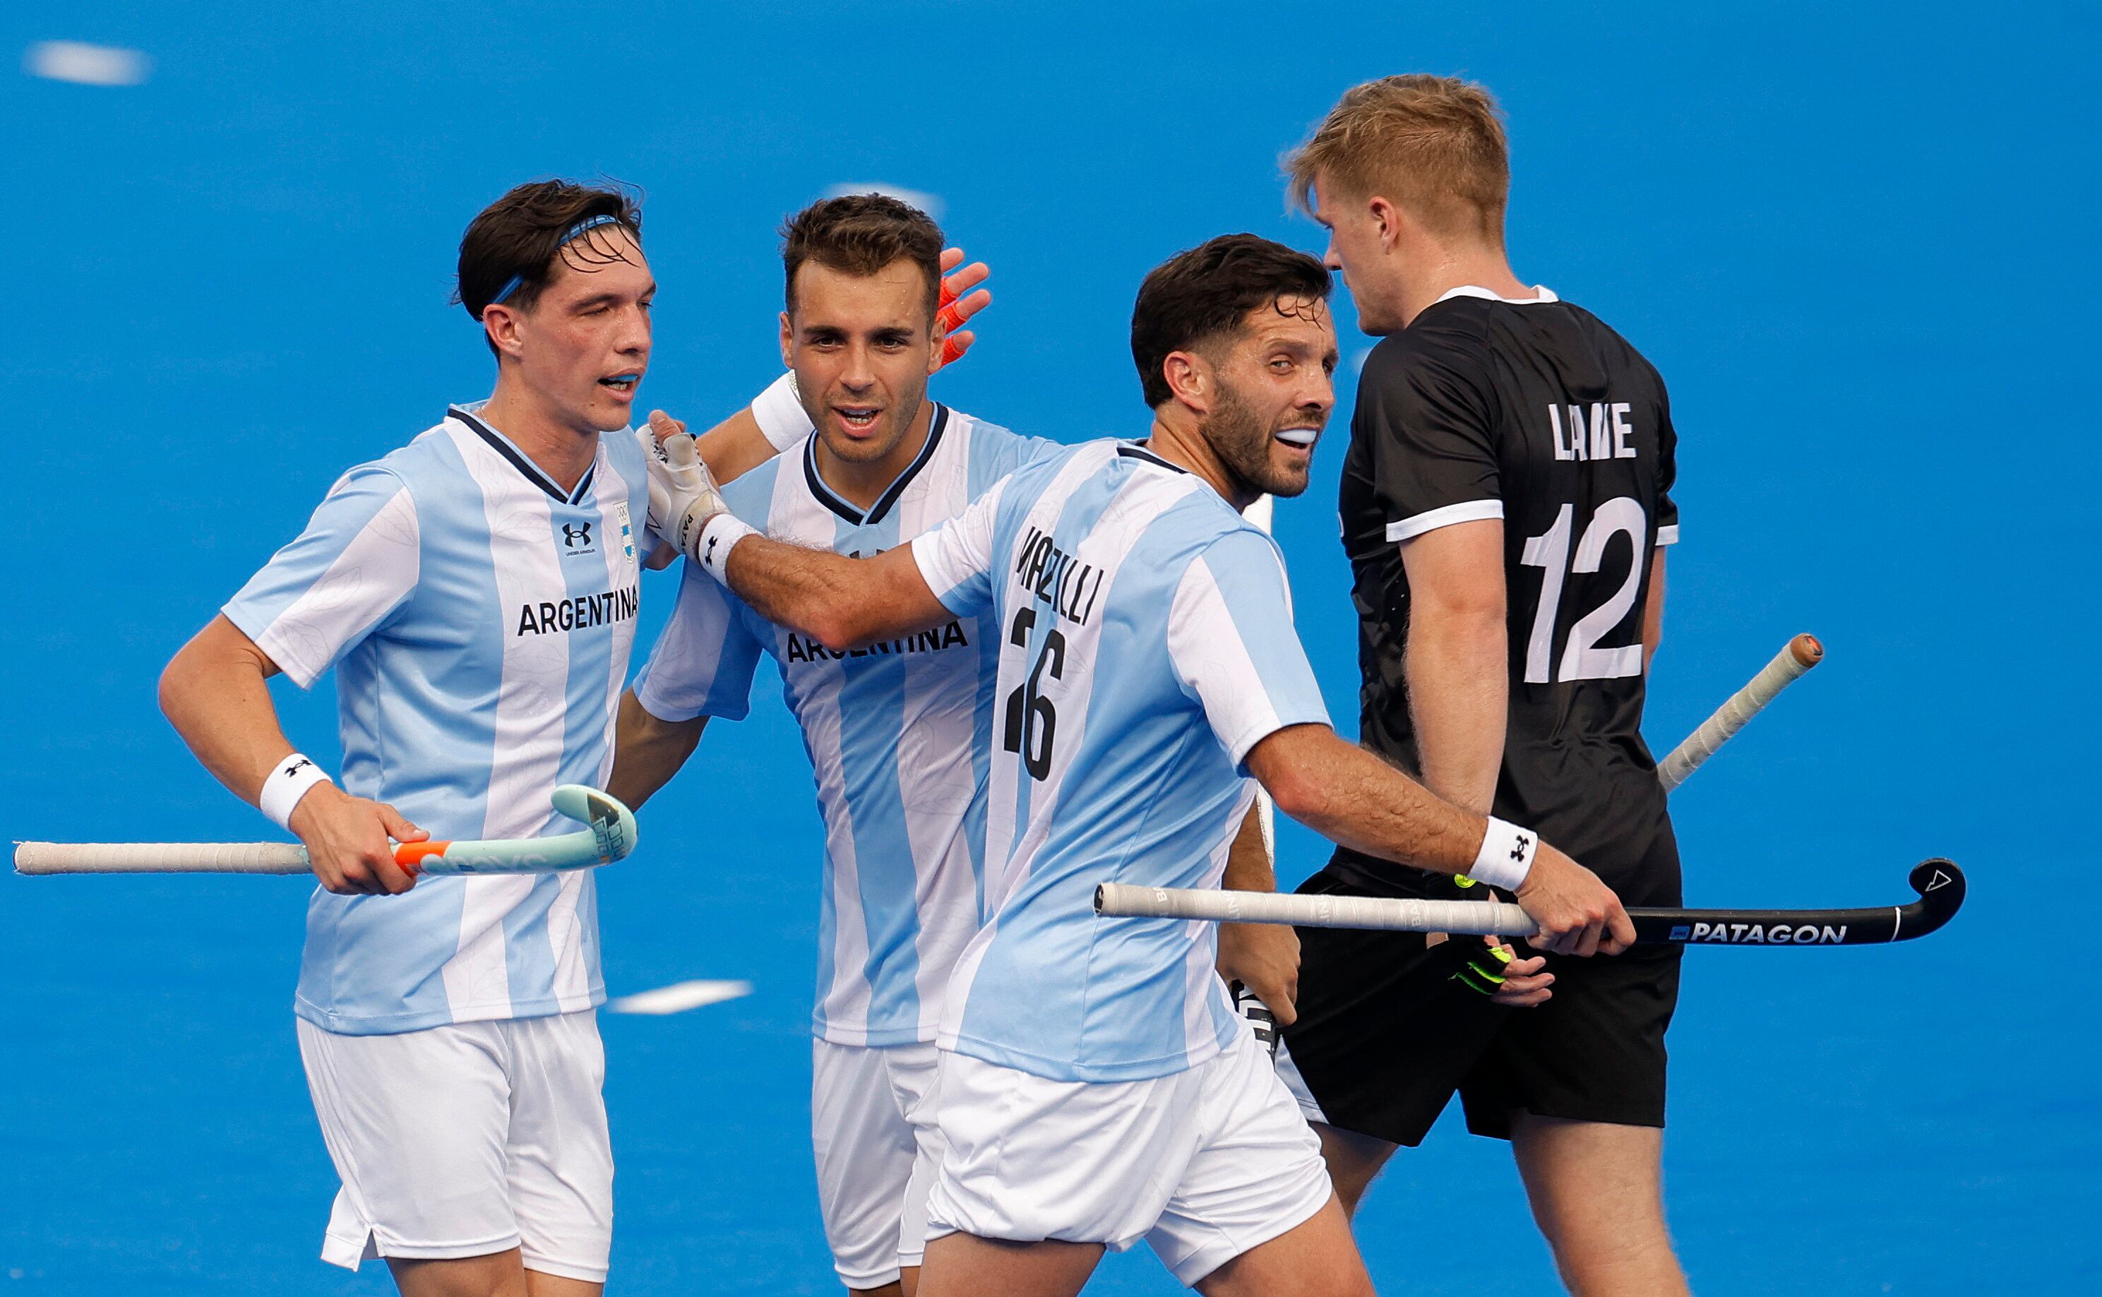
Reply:
[[[1307,143],[1284,156],[1293,200],[1314,181],[1345,198],[1392,198],[1438,233],[1503,246],[1511,156],[1497,99],[1455,76],[1385,76],[1343,92]]]

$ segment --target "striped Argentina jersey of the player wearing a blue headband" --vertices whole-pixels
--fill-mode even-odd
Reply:
[[[225,605],[288,677],[336,668],[347,792],[433,839],[576,828],[555,784],[605,786],[637,612],[643,452],[605,433],[574,492],[452,408],[345,473]],[[427,877],[307,904],[294,1011],[353,1036],[538,1017],[605,999],[593,870]]]

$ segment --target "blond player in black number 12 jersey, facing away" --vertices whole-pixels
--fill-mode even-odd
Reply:
[[[1364,332],[1385,336],[1341,492],[1362,740],[1446,799],[1537,828],[1623,904],[1677,906],[1640,734],[1679,521],[1663,380],[1511,273],[1505,137],[1480,86],[1358,86],[1289,166]],[[1347,849],[1301,891],[1469,895]],[[1471,1131],[1511,1141],[1574,1293],[1686,1291],[1658,1188],[1675,946],[1501,963],[1478,938],[1299,938],[1284,1041],[1347,1207],[1459,1091]]]

